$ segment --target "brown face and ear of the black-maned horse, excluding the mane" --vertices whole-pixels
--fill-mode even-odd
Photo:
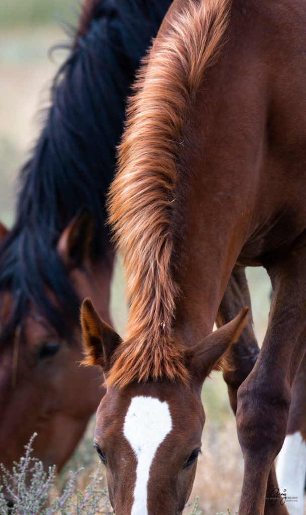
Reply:
[[[5,236],[6,231],[1,228]],[[88,259],[90,224],[84,213],[63,231],[57,252],[79,302],[93,295],[101,315],[109,320],[109,263]],[[97,295],[99,293],[99,295]],[[45,295],[58,309],[59,301],[47,287]],[[14,307],[10,291],[2,295],[1,324]],[[78,311],[78,310],[77,310]],[[78,313],[69,337],[60,334],[38,307],[28,301],[21,322],[0,349],[0,462],[7,467],[24,453],[32,433],[35,455],[45,468],[61,468],[73,452],[100,400],[99,373],[79,367],[81,335]],[[75,400],[78,399],[78,402]]]

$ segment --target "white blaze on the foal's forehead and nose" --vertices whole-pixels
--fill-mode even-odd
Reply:
[[[172,429],[168,404],[153,397],[134,397],[127,411],[123,433],[137,457],[136,483],[131,515],[147,515],[147,485],[151,463]]]

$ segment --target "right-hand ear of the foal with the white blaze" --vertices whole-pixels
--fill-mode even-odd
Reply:
[[[187,351],[187,367],[195,381],[202,383],[213,370],[228,368],[227,351],[239,338],[247,320],[247,313],[248,307],[245,306],[236,318]]]

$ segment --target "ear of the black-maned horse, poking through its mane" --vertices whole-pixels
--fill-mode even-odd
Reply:
[[[79,267],[89,258],[94,220],[86,209],[73,217],[57,242],[57,253],[66,268]]]

